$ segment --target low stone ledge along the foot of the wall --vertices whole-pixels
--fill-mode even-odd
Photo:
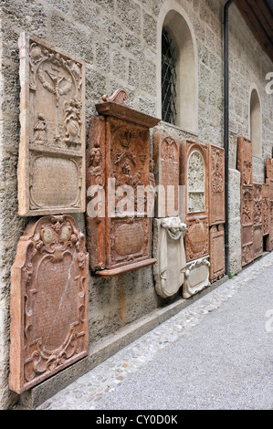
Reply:
[[[20,395],[20,402],[14,409],[36,409],[41,403],[44,403],[57,392],[67,387],[71,382],[75,382],[79,377],[86,372],[92,370],[103,361],[109,359],[112,355],[121,351],[134,340],[138,340],[150,330],[153,330],[158,325],[172,318],[182,309],[193,304],[199,298],[204,297],[207,293],[215,288],[218,288],[228,279],[227,276],[220,278],[211,286],[205,288],[197,295],[191,298],[180,298],[173,304],[161,309],[155,309],[152,313],[144,316],[127,325],[115,334],[100,340],[89,348],[89,356],[69,366],[67,369],[58,372],[56,375],[48,378],[46,381],[37,384],[27,392]]]

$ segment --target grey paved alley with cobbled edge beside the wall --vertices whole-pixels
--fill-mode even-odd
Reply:
[[[273,252],[38,407],[272,408]]]

